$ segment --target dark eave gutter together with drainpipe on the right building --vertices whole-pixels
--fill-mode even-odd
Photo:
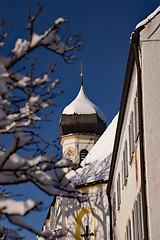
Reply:
[[[143,211],[143,229],[144,229],[144,240],[148,240],[148,215],[147,215],[147,197],[146,197],[146,176],[145,176],[145,156],[144,156],[144,129],[143,129],[143,102],[142,102],[142,78],[141,78],[141,68],[139,62],[139,33],[144,29],[144,26],[140,26],[135,30],[132,35],[130,51],[127,61],[127,68],[120,104],[119,118],[117,123],[117,130],[115,135],[115,142],[113,147],[113,155],[111,160],[110,175],[107,185],[107,196],[109,202],[109,212],[110,212],[110,240],[112,237],[112,205],[111,205],[111,186],[114,176],[114,169],[116,165],[116,158],[118,153],[119,141],[123,126],[123,119],[125,116],[125,109],[127,105],[127,99],[129,94],[129,88],[131,84],[131,77],[133,72],[134,62],[136,62],[137,67],[137,81],[138,81],[138,112],[139,112],[139,131],[140,131],[140,165],[141,165],[141,191],[142,191],[142,211]]]

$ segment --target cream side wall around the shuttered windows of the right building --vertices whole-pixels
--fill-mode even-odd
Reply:
[[[136,97],[136,93],[137,93],[137,70],[136,70],[136,66],[134,66],[133,73],[132,73],[131,86],[128,94],[128,101],[126,105],[126,111],[125,111],[125,116],[124,116],[124,121],[122,126],[122,132],[121,132],[121,137],[119,142],[119,148],[117,153],[112,188],[111,188],[112,209],[113,209],[113,196],[114,196],[114,193],[116,194],[115,195],[116,196],[116,221],[113,222],[113,235],[118,240],[125,239],[126,225],[127,225],[128,219],[132,221],[132,209],[134,207],[137,194],[140,192],[140,186],[141,186],[139,138],[138,138],[138,134],[137,136],[135,136],[135,128],[134,128],[134,149],[135,148],[137,149],[136,150],[137,154],[135,156],[135,151],[134,151],[132,154],[132,158],[129,157],[129,125],[131,121],[132,111],[134,116],[134,100]],[[133,126],[135,126],[134,121],[133,121]],[[124,151],[126,140],[127,140],[127,149],[128,149],[127,151],[128,152],[128,163],[127,163],[128,177],[127,177],[126,185],[123,186],[122,175],[123,175],[124,169],[122,167],[122,160],[123,160],[123,151]],[[136,179],[135,160],[137,160],[138,179]],[[120,174],[120,195],[121,195],[121,204],[119,206],[119,209],[118,209],[118,203],[117,203],[118,174]],[[132,232],[132,239],[133,239],[133,232]]]

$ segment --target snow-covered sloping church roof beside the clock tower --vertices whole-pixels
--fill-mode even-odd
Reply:
[[[83,160],[82,168],[67,174],[67,178],[70,178],[74,184],[79,185],[108,179],[117,121],[118,114]]]

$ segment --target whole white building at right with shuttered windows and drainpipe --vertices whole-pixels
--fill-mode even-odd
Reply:
[[[111,239],[160,239],[160,8],[132,34],[107,193]]]

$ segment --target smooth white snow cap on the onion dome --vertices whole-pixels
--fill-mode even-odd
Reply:
[[[81,86],[80,91],[75,100],[73,100],[73,102],[71,102],[67,107],[65,107],[62,114],[71,115],[74,113],[76,114],[96,113],[104,122],[106,122],[106,118],[103,112],[88,99],[83,86]]]

